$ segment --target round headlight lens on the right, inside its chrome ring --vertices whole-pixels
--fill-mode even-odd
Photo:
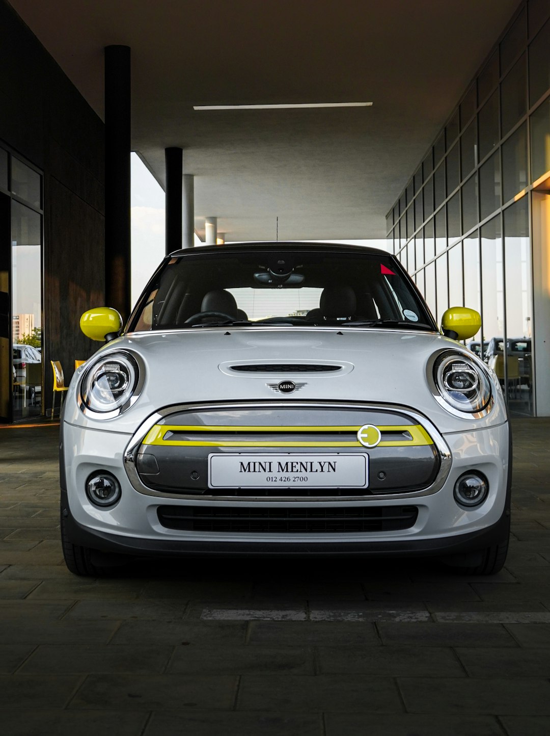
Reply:
[[[434,378],[441,396],[459,411],[474,414],[490,401],[485,371],[466,355],[442,355],[435,363]]]

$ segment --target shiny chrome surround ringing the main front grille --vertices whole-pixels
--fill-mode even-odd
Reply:
[[[337,495],[337,496],[328,496],[328,495],[319,495],[319,496],[270,496],[268,499],[265,498],[265,496],[250,496],[250,495],[243,495],[243,496],[236,496],[236,495],[207,495],[207,493],[201,494],[198,496],[196,493],[193,494],[185,494],[185,493],[171,493],[167,491],[157,491],[154,489],[149,488],[143,482],[141,481],[139,475],[137,474],[136,469],[136,459],[137,459],[137,453],[141,447],[141,443],[143,442],[143,439],[148,434],[149,430],[154,427],[154,425],[157,424],[157,422],[162,421],[165,417],[169,416],[170,414],[176,414],[180,411],[227,411],[231,409],[235,410],[254,410],[254,409],[262,409],[262,408],[324,408],[324,409],[354,409],[354,410],[363,410],[363,411],[399,411],[400,414],[406,415],[410,420],[414,421],[416,424],[421,425],[424,427],[424,429],[428,432],[429,436],[431,436],[434,445],[437,449],[437,453],[440,459],[440,470],[437,474],[437,477],[435,478],[435,481],[428,486],[425,489],[422,489],[420,491],[412,491],[407,493],[379,493],[376,495],[352,495],[352,496],[344,496],[344,495]],[[135,488],[137,492],[143,493],[144,495],[154,496],[156,498],[174,498],[179,500],[210,500],[213,502],[219,502],[223,500],[228,501],[243,501],[243,502],[250,502],[254,500],[258,501],[275,501],[275,502],[283,502],[283,503],[289,503],[289,502],[307,502],[307,501],[322,501],[324,503],[326,502],[341,502],[341,501],[367,501],[367,502],[379,502],[380,500],[396,500],[396,499],[411,499],[411,498],[420,498],[422,496],[432,495],[434,493],[437,493],[442,487],[443,484],[445,484],[445,481],[447,479],[447,476],[449,475],[449,471],[451,470],[451,452],[449,450],[449,447],[447,446],[445,440],[443,439],[443,436],[440,435],[440,433],[435,428],[435,425],[432,424],[426,417],[424,417],[422,414],[418,414],[418,412],[404,406],[396,406],[396,405],[390,405],[390,404],[367,404],[367,403],[355,403],[355,402],[340,402],[340,401],[307,401],[307,402],[297,402],[297,401],[270,401],[270,402],[258,402],[258,401],[240,401],[240,402],[218,402],[218,403],[201,403],[201,404],[178,404],[174,406],[167,406],[159,411],[155,412],[154,414],[151,414],[151,417],[149,417],[143,424],[140,426],[140,428],[136,431],[134,436],[129,442],[129,445],[126,447],[126,451],[124,453],[124,467],[126,469],[126,473],[128,475],[129,481],[132,484],[132,486]]]

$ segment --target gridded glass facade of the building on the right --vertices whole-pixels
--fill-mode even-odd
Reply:
[[[512,416],[537,414],[531,222],[550,191],[549,49],[550,2],[525,0],[416,171],[413,227],[399,208],[388,224],[438,320],[449,305],[482,315],[468,343]]]

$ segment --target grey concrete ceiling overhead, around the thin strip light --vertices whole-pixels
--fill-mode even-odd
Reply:
[[[132,48],[132,148],[195,175],[199,234],[381,238],[385,214],[518,0],[10,0],[103,115],[103,48]],[[373,102],[324,110],[193,105]]]

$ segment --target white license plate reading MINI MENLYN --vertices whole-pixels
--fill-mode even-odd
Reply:
[[[368,455],[247,455],[208,456],[209,488],[366,488]]]

